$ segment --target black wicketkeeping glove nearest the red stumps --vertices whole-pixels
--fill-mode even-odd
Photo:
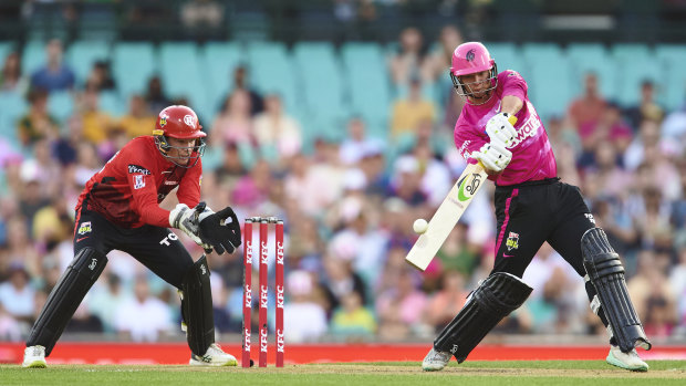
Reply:
[[[230,222],[227,222],[230,219]],[[218,254],[226,250],[233,253],[240,247],[240,223],[231,207],[226,207],[211,215],[199,216],[199,237],[204,243],[209,244]]]

